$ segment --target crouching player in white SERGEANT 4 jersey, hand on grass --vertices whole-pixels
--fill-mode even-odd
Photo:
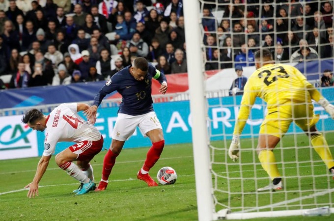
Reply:
[[[61,104],[47,116],[37,109],[32,109],[23,116],[22,122],[28,124],[32,130],[43,132],[47,129],[43,156],[33,181],[25,187],[29,188],[29,198],[38,195],[38,183],[59,141],[76,142],[56,155],[56,164],[81,183],[74,193],[81,195],[95,190],[93,168],[89,162],[101,151],[103,138],[94,126],[78,115],[78,111],[88,108],[88,105],[82,103]],[[73,161],[77,161],[77,165],[73,164]]]

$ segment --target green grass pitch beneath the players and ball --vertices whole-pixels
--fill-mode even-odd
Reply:
[[[332,133],[333,134],[333,133]],[[310,150],[305,148],[308,145],[306,136],[298,136],[297,148],[286,148],[294,146],[292,136],[286,136],[282,141],[282,148],[275,150],[277,161],[284,160],[285,176],[288,193],[263,193],[258,195],[258,206],[279,203],[287,199],[293,199],[314,193],[313,188],[328,189],[334,188],[334,182],[328,184],[329,177],[326,167],[320,158],[313,151],[315,160],[313,171],[316,176],[311,177],[312,166],[310,163],[299,164],[300,175],[306,175],[300,182],[296,175],[296,152],[298,151],[298,161],[309,160]],[[334,143],[331,133],[326,136],[328,143]],[[243,140],[242,147],[250,145],[250,140]],[[227,141],[229,144],[229,141]],[[256,143],[255,143],[256,144]],[[223,142],[213,142],[216,147],[222,148]],[[217,178],[217,188],[226,191],[229,187],[233,192],[240,192],[243,187],[244,192],[250,194],[231,194],[230,198],[226,193],[217,192],[217,199],[220,203],[227,205],[228,199],[233,207],[252,207],[256,201],[254,194],[255,181],[252,177],[258,177],[257,185],[268,184],[268,178],[256,159],[256,165],[251,165],[254,157],[253,151],[242,151],[242,164],[233,164],[225,156],[228,147],[215,150],[213,157],[213,169],[219,177]],[[283,151],[281,151],[283,149]],[[296,151],[297,149],[297,151]],[[332,153],[333,148],[332,149]],[[106,191],[95,193],[90,192],[82,196],[73,196],[73,190],[79,184],[69,177],[63,170],[56,166],[54,157],[52,158],[48,170],[40,182],[39,196],[27,198],[27,191],[21,190],[32,181],[39,158],[27,158],[16,160],[0,161],[0,221],[17,220],[71,220],[71,221],[194,221],[197,220],[195,172],[192,144],[167,145],[161,159],[151,169],[151,176],[156,179],[158,170],[163,166],[173,167],[178,179],[174,185],[158,187],[147,187],[142,181],[137,180],[136,174],[142,166],[147,148],[124,149],[116,160],[112,169],[109,186]],[[103,157],[106,151],[102,151],[92,160],[95,180],[101,178]],[[283,153],[283,154],[282,154]],[[222,164],[227,159],[228,164]],[[279,164],[278,167],[282,165]],[[230,180],[227,185],[226,171],[229,176],[236,179]],[[281,170],[280,170],[281,171]],[[317,176],[319,175],[319,176]],[[240,179],[242,176],[244,179]],[[302,183],[302,185],[298,185]],[[299,194],[297,190],[301,188],[304,192]],[[16,191],[16,192],[15,192]],[[11,193],[7,193],[11,192]],[[2,194],[5,193],[5,194]],[[334,199],[334,193],[331,193]],[[244,200],[242,198],[244,197]],[[330,195],[323,195],[316,198],[317,203],[326,204],[330,201]],[[314,202],[314,198],[306,199],[304,204]],[[290,209],[295,209],[292,203]],[[333,203],[333,202],[332,202]],[[333,205],[333,204],[332,204]],[[314,207],[314,206],[313,206]],[[313,208],[310,207],[310,208]],[[216,207],[222,209],[222,205]],[[305,207],[307,208],[307,207]],[[282,207],[284,209],[284,207]],[[266,209],[264,209],[265,211]],[[267,209],[268,210],[268,209]],[[271,219],[254,219],[256,221],[318,221],[331,220],[330,217],[288,217]]]

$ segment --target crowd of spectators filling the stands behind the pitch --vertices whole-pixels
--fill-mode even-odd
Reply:
[[[331,1],[205,2],[206,70],[254,65],[259,47],[279,62],[334,56]],[[102,81],[137,56],[184,73],[185,49],[182,0],[0,0],[0,75],[12,74],[9,88]]]

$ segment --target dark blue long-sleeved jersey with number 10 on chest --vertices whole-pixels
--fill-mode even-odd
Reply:
[[[129,65],[109,79],[97,92],[92,105],[99,106],[102,99],[113,91],[122,95],[118,113],[129,115],[141,115],[153,111],[152,100],[152,78],[160,83],[167,82],[166,76],[148,63],[148,72],[145,79],[137,81],[129,71]]]

